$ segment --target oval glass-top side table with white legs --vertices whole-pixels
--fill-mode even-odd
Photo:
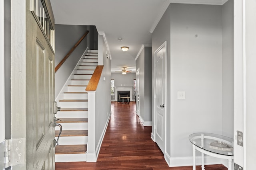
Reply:
[[[204,170],[204,154],[216,158],[228,159],[228,170],[232,170],[233,139],[213,133],[193,133],[189,135],[193,144],[193,170],[196,170],[196,150],[202,153],[202,170]]]

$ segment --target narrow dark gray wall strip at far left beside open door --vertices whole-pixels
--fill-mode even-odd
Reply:
[[[5,138],[11,139],[11,2],[4,0]]]

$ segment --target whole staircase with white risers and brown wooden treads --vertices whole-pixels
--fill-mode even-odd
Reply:
[[[62,125],[55,162],[86,161],[88,143],[88,93],[85,91],[98,65],[98,51],[87,50],[66,82],[58,98],[57,123]],[[60,97],[59,97],[60,96]],[[59,128],[56,127],[56,140]]]

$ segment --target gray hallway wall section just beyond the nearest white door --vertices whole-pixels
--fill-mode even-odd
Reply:
[[[144,47],[136,60],[140,68],[140,117],[152,121],[152,47]]]

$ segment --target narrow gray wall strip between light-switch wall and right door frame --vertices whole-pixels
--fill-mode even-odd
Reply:
[[[234,0],[222,6],[222,133],[234,132]]]

